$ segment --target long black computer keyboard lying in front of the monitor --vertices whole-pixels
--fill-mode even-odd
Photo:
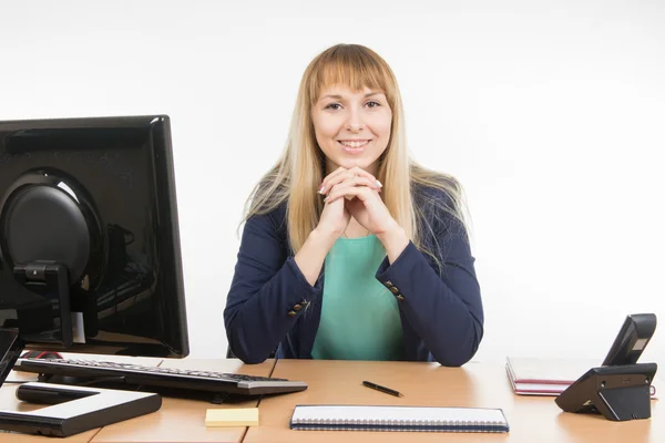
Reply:
[[[100,381],[116,380],[131,385],[246,395],[287,393],[307,389],[305,382],[286,379],[92,360],[19,359],[14,370],[44,375],[94,378]]]

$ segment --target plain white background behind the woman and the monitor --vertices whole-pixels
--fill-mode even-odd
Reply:
[[[368,45],[413,156],[466,186],[475,359],[602,359],[627,313],[665,322],[663,23],[658,0],[0,0],[0,120],[172,117],[191,357],[221,358],[243,204],[303,71]]]

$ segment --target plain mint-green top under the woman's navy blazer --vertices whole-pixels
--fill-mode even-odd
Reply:
[[[383,245],[375,235],[337,239],[326,257],[313,358],[402,360],[397,300],[375,277],[385,257]]]

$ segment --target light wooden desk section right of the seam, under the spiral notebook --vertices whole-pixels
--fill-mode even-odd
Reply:
[[[665,442],[665,412],[652,401],[652,419],[611,422],[600,415],[563,412],[551,396],[513,394],[502,364],[279,360],[272,377],[303,380],[306,391],[264,399],[259,426],[244,442]],[[396,398],[362,387],[369,380],[405,394]],[[402,404],[501,408],[510,424],[504,434],[291,431],[296,404]]]

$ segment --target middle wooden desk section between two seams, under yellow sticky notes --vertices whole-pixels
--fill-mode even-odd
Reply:
[[[243,364],[228,360],[164,360],[167,368],[202,371],[236,372],[269,377],[274,360],[260,364]],[[157,443],[157,442],[242,442],[247,427],[206,427],[205,411],[215,408],[255,408],[256,399],[228,404],[206,401],[162,398],[162,409],[155,413],[104,426],[92,443]]]

